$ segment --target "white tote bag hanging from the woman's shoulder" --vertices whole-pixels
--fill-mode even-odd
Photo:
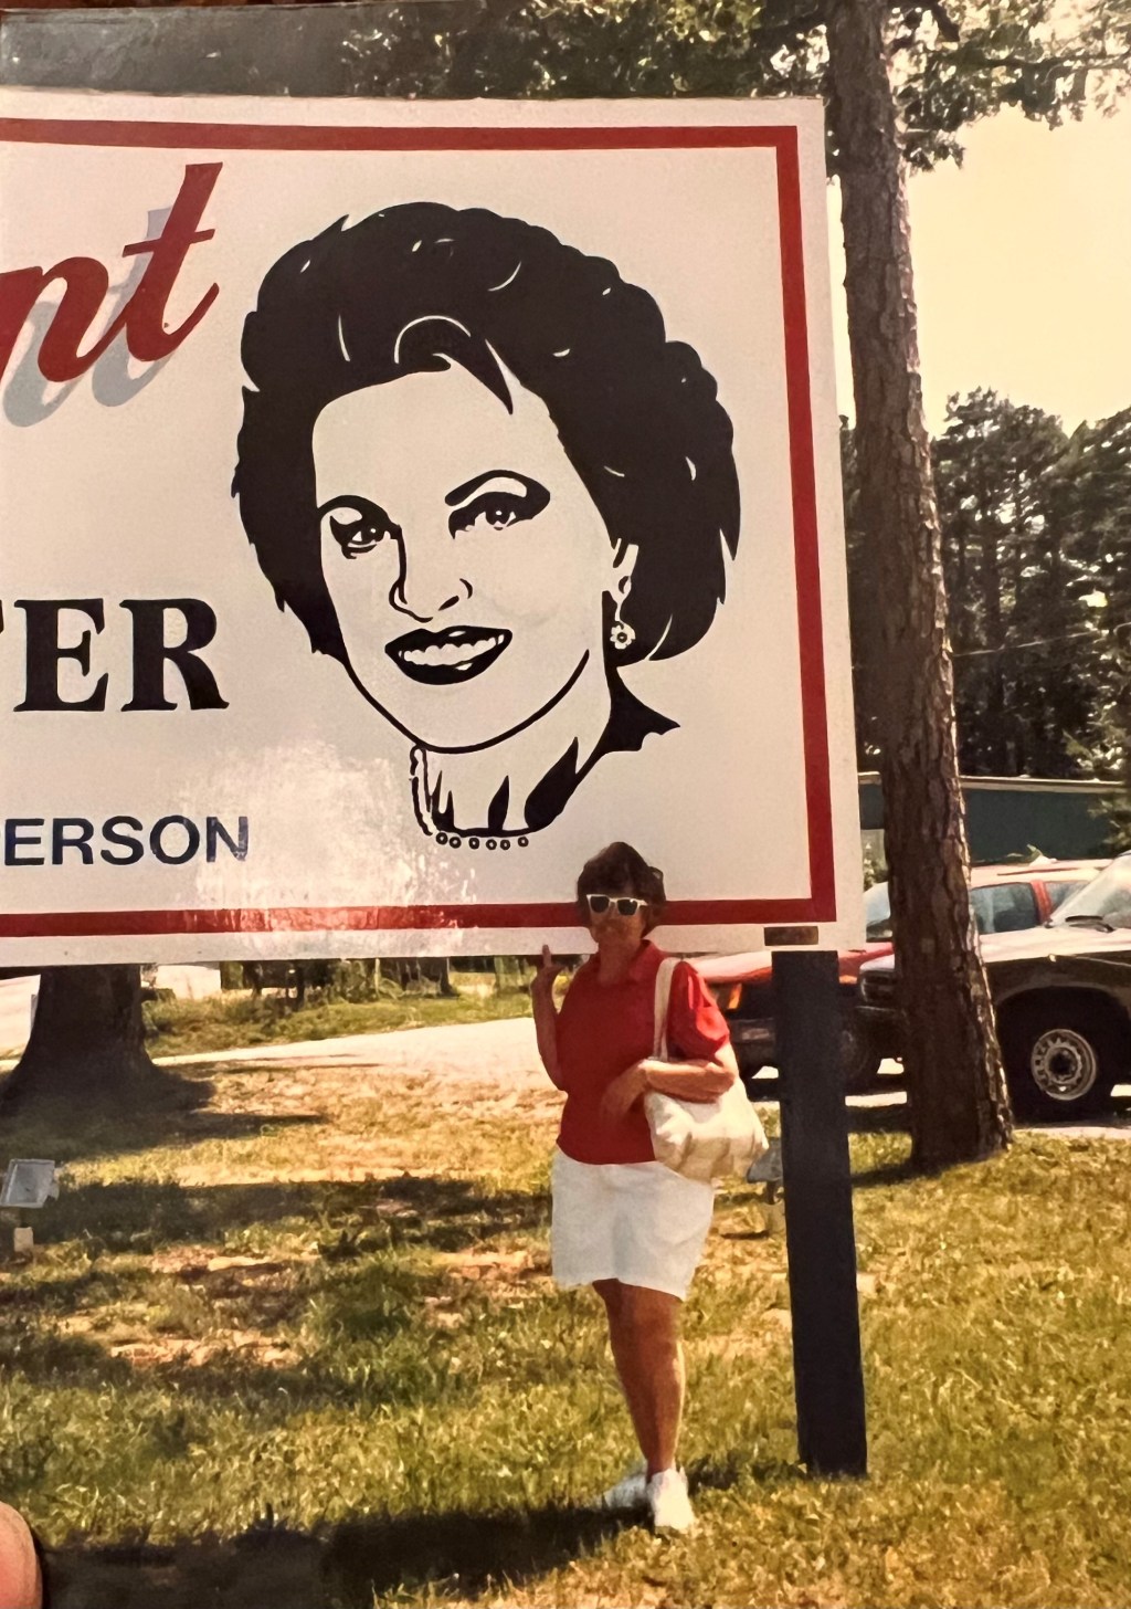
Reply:
[[[653,1054],[668,1060],[668,1002],[671,980],[679,965],[666,956],[656,972],[656,1027]],[[769,1149],[758,1113],[746,1097],[742,1080],[735,1078],[718,1101],[679,1101],[658,1089],[648,1089],[644,1110],[652,1130],[656,1162],[685,1179],[711,1184],[729,1173],[745,1176],[751,1162]]]

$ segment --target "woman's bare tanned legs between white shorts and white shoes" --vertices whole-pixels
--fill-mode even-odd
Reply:
[[[632,1416],[648,1477],[676,1463],[685,1371],[679,1345],[679,1297],[618,1279],[594,1289],[608,1313],[613,1361]]]

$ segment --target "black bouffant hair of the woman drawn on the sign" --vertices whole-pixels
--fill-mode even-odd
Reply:
[[[452,362],[507,407],[500,364],[534,391],[615,547],[639,547],[621,607],[635,642],[616,663],[698,642],[738,542],[734,431],[714,380],[611,262],[518,219],[418,201],[294,246],[243,328],[233,492],[311,647],[346,660],[322,579],[315,420],[351,391]]]

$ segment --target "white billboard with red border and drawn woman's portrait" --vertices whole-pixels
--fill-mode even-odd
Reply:
[[[856,940],[824,185],[806,101],[0,92],[0,964],[576,949],[615,838]]]

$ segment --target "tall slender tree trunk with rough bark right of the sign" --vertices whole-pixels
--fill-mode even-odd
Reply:
[[[946,639],[943,545],[919,378],[911,232],[885,50],[886,0],[829,8],[861,512],[885,661],[883,808],[912,1163],[1002,1150],[1009,1097],[978,956]]]

